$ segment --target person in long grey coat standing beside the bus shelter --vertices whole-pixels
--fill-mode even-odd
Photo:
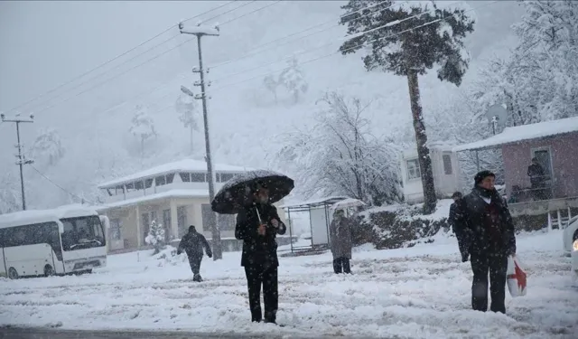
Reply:
[[[331,254],[333,255],[333,271],[351,273],[350,259],[353,241],[351,240],[351,221],[345,217],[343,210],[333,213],[329,227]]]

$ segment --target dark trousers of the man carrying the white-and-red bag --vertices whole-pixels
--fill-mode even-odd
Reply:
[[[508,255],[503,253],[471,253],[471,307],[476,311],[488,310],[488,273],[489,294],[492,312],[506,313],[506,272]]]

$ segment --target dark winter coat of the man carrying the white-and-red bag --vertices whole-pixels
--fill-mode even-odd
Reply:
[[[490,198],[490,203],[483,197]],[[457,220],[468,253],[516,253],[514,222],[498,191],[475,187],[459,204]],[[463,254],[463,253],[462,253]]]

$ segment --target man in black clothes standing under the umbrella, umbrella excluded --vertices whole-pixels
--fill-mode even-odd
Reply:
[[[265,304],[265,322],[276,324],[279,303],[277,291],[277,234],[286,227],[279,219],[277,209],[269,203],[266,184],[257,184],[253,202],[238,212],[235,238],[243,240],[241,266],[245,268],[251,320],[261,322],[261,286]]]

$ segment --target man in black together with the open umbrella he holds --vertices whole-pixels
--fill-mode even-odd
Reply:
[[[294,181],[271,171],[238,174],[219,190],[211,202],[214,212],[235,214],[235,238],[243,240],[241,266],[245,268],[251,320],[261,322],[261,287],[265,322],[276,325],[279,304],[277,234],[287,230],[273,203],[294,188]]]

